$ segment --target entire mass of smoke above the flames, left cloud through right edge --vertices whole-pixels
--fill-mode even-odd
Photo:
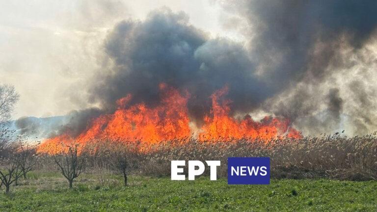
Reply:
[[[153,105],[159,102],[158,84],[165,82],[191,93],[189,115],[200,122],[210,109],[208,97],[228,85],[233,114],[284,116],[308,134],[376,129],[368,119],[374,108],[368,74],[354,75],[368,61],[372,67],[376,57],[365,50],[376,35],[377,2],[222,5],[247,23],[246,45],[209,38],[189,25],[185,13],[167,8],[151,12],[143,22],[119,23],[104,45],[111,66],[89,83],[90,102],[112,110],[117,99],[131,93],[133,103]]]

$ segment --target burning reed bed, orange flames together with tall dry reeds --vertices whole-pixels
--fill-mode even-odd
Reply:
[[[255,121],[249,114],[234,115],[233,102],[227,99],[228,86],[208,97],[209,113],[194,121],[188,109],[192,96],[187,90],[180,92],[166,83],[160,83],[158,89],[158,104],[132,104],[134,96],[128,94],[115,101],[114,112],[89,119],[76,134],[65,126],[44,140],[36,153],[54,157],[75,146],[89,159],[90,167],[98,168],[104,168],[117,154],[125,154],[128,172],[147,176],[168,176],[170,161],[177,159],[226,164],[228,157],[269,157],[275,179],[377,178],[376,133],[303,136],[282,116]],[[218,175],[227,176],[226,165]]]

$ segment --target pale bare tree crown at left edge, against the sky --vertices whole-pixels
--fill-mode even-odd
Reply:
[[[0,123],[10,119],[15,104],[20,99],[20,95],[13,85],[0,85]]]

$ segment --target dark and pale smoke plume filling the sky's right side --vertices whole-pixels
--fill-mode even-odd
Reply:
[[[219,3],[248,24],[250,57],[274,92],[260,110],[307,134],[377,129],[367,118],[375,117],[376,1]]]

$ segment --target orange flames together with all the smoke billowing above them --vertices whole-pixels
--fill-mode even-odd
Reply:
[[[63,89],[61,107],[78,109],[63,123],[15,126],[43,134],[38,152],[49,154],[103,140],[147,150],[170,140],[371,133],[377,19],[364,14],[374,17],[375,3],[338,3],[224,3],[239,11],[242,42],[210,36],[168,8],[117,22],[95,49],[98,66]]]

